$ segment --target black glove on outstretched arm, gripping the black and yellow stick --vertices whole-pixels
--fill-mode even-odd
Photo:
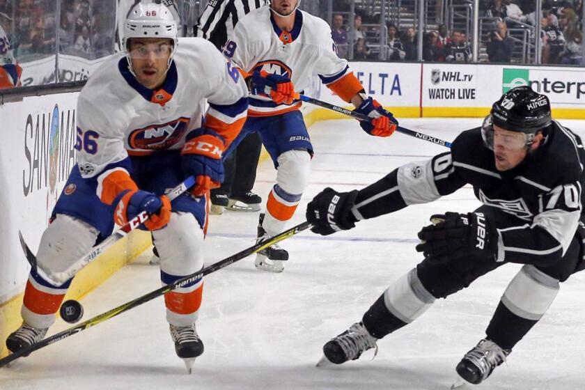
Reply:
[[[327,187],[317,194],[306,206],[306,220],[313,224],[311,231],[320,235],[330,235],[336,231],[347,231],[355,227],[357,219],[352,207],[357,189],[352,192],[336,192]]]

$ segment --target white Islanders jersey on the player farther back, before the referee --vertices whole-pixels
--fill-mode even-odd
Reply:
[[[348,62],[336,54],[331,28],[318,17],[295,11],[292,31],[282,31],[276,25],[269,7],[258,8],[242,17],[233,36],[224,47],[224,55],[233,59],[244,72],[265,70],[288,76],[295,91],[309,86],[311,77],[319,75],[322,82],[340,97],[349,101],[362,90]],[[260,95],[250,97],[249,116],[272,116],[299,109],[298,100],[292,105],[276,104]]]

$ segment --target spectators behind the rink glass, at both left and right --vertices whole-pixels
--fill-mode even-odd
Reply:
[[[6,35],[0,36],[0,49],[10,48],[11,56],[18,63],[25,64],[24,68],[26,63],[55,54],[85,60],[113,54],[119,1],[0,0],[0,31]],[[183,5],[186,0],[175,1]],[[465,2],[426,1],[429,10],[434,12],[446,1]],[[303,2],[302,8],[328,20],[338,54],[343,58],[353,61],[417,61],[416,20],[403,17],[409,12],[407,1],[400,6],[400,14],[386,15],[384,23],[380,12],[366,7],[370,3],[365,0],[312,0]],[[350,4],[354,9],[351,14]],[[400,5],[391,1],[389,4]],[[531,42],[536,42],[535,4],[533,0],[480,0],[478,62],[535,63],[536,54],[526,54],[530,50],[526,45],[534,46]],[[377,7],[380,11],[380,6]],[[540,63],[584,64],[582,15],[583,0],[543,0],[542,17],[538,21]],[[448,27],[444,19],[437,16],[436,20],[432,17],[429,22],[426,17],[423,61],[472,61],[469,27],[461,28],[453,22]],[[183,29],[188,30],[189,26],[183,24]]]

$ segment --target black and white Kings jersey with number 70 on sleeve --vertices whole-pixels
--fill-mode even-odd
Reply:
[[[535,153],[510,171],[498,171],[476,128],[462,132],[450,152],[400,166],[362,189],[352,211],[357,219],[372,218],[469,184],[481,203],[517,217],[517,226],[498,229],[497,260],[549,264],[561,258],[577,230],[584,161],[581,139],[553,122]]]

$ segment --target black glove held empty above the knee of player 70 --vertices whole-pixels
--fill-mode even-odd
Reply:
[[[432,225],[419,232],[422,242],[416,251],[425,258],[443,263],[463,256],[493,258],[498,256],[496,227],[481,212],[446,212],[430,217]]]

